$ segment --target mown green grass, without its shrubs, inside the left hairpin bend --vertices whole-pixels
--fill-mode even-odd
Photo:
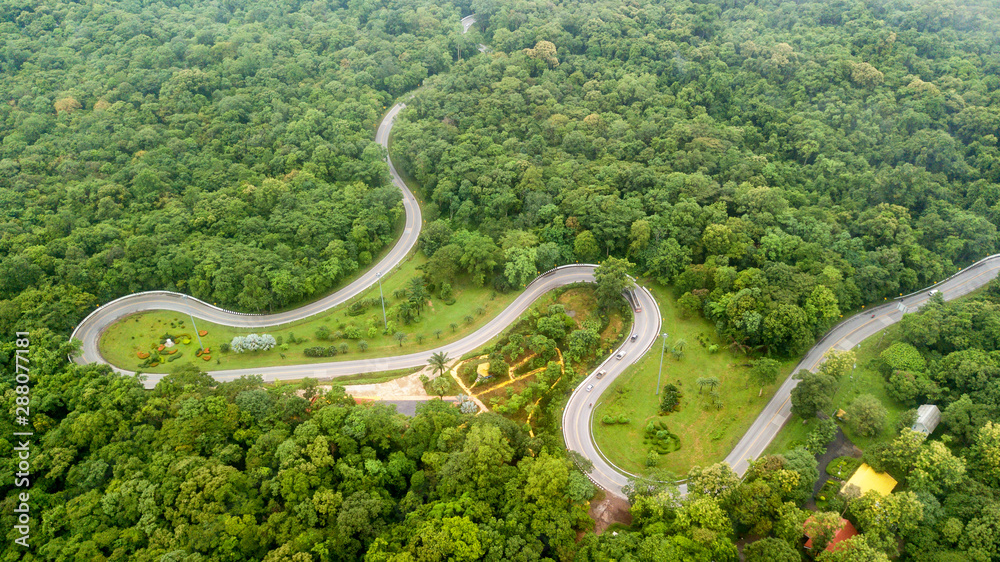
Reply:
[[[413,254],[399,268],[384,278],[382,287],[387,308],[400,302],[401,299],[393,296],[393,291],[406,285],[412,277],[419,275],[420,272],[416,268],[424,263],[426,263],[426,258],[422,254]],[[359,298],[374,297],[377,299],[378,291],[378,285],[375,285],[362,293]],[[194,355],[198,349],[198,343],[197,338],[194,337],[195,330],[191,326],[191,319],[184,314],[170,311],[143,312],[115,322],[101,335],[100,350],[101,355],[111,364],[135,370],[141,362],[136,354],[139,351],[150,351],[154,344],[159,344],[161,335],[164,333],[189,334],[191,343],[178,345],[180,353],[183,354],[182,357],[170,363],[161,363],[154,368],[143,369],[144,372],[152,373],[166,373],[184,364],[194,364],[205,370],[221,370],[349,361],[400,355],[433,349],[470,334],[506,308],[517,297],[517,294],[516,292],[497,294],[490,288],[475,287],[468,280],[461,280],[454,284],[455,304],[445,305],[435,294],[430,299],[431,305],[424,307],[424,312],[419,317],[418,322],[410,326],[403,326],[401,322],[396,322],[397,330],[407,334],[407,339],[402,346],[391,334],[382,335],[382,311],[380,307],[371,307],[364,314],[352,317],[347,314],[347,306],[341,305],[298,322],[264,329],[233,328],[195,319],[199,330],[208,331],[208,335],[201,339],[203,345],[211,350],[210,361],[203,361]],[[467,317],[471,317],[472,321],[469,322]],[[390,318],[391,320],[393,319]],[[371,338],[367,334],[370,323],[380,328],[378,335]],[[368,343],[368,348],[364,352],[359,349],[358,342],[355,340],[319,341],[316,338],[316,330],[320,326],[326,326],[331,332],[336,332],[343,331],[352,324],[361,329],[363,333],[361,339]],[[454,331],[451,324],[456,324]],[[438,330],[441,331],[440,337],[436,334]],[[220,346],[223,343],[228,343],[234,336],[249,333],[267,333],[275,338],[280,336],[288,345],[288,349],[281,350],[276,347],[270,351],[256,353],[222,353]],[[305,339],[307,341],[289,344],[287,342],[291,334],[294,334],[297,340]],[[423,338],[422,343],[418,341],[421,337]],[[338,354],[334,357],[306,357],[303,354],[303,350],[307,347],[339,346],[342,343],[348,346],[346,354]]]

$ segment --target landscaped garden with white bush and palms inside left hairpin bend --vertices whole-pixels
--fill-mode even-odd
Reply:
[[[178,312],[150,311],[127,316],[109,326],[101,335],[101,355],[117,367],[152,373],[167,373],[183,364],[220,370],[384,357],[433,349],[461,339],[517,297],[517,292],[497,293],[488,287],[476,287],[462,277],[450,289],[444,288],[447,299],[441,296],[442,288],[425,286],[426,301],[421,298],[422,309],[417,311],[408,291],[411,280],[421,273],[418,268],[426,261],[422,254],[414,254],[383,279],[388,330],[383,325],[379,288],[375,285],[349,303],[323,313],[263,328],[275,338],[276,345],[268,351],[233,353],[228,348],[233,338],[259,333],[261,328],[234,328],[195,319],[202,345],[212,353],[196,355],[195,349],[184,352],[198,345],[191,319]],[[150,361],[166,335],[182,338],[174,340],[182,352],[171,355],[166,362]],[[185,339],[193,343],[185,344]],[[142,357],[140,353],[150,356]],[[159,359],[163,359],[162,354]]]

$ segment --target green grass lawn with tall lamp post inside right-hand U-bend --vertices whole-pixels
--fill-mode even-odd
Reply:
[[[729,352],[715,335],[715,327],[704,318],[683,318],[666,287],[651,280],[641,283],[656,297],[664,319],[663,331],[669,333],[660,387],[667,383],[677,385],[683,393],[681,408],[668,416],[659,415],[660,397],[654,394],[660,365],[661,344],[657,342],[645,357],[615,380],[595,406],[594,438],[613,463],[630,472],[645,472],[648,446],[643,444],[643,430],[650,420],[663,420],[680,437],[681,448],[660,455],[657,466],[682,477],[694,465],[705,466],[724,459],[770,400],[778,383],[764,387],[760,396],[760,387],[747,388],[748,367],[744,365],[749,362],[748,357]],[[699,336],[705,345],[699,343]],[[687,341],[679,361],[670,354],[670,346],[678,339]],[[720,350],[709,353],[708,345],[713,343]],[[794,360],[782,363],[779,381],[794,366]],[[716,390],[722,399],[721,410],[711,404],[708,389],[699,394],[695,381],[700,377],[719,379]],[[607,414],[621,413],[630,418],[630,423],[600,423]]]

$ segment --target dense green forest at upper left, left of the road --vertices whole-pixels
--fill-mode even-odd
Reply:
[[[402,216],[375,125],[462,54],[459,17],[0,3],[0,326],[63,330],[147,289],[267,310],[352,277]]]

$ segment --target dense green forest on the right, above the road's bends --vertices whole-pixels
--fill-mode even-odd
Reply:
[[[474,7],[494,52],[427,80],[394,156],[442,229],[526,232],[508,260],[627,256],[794,354],[997,250],[994,4]]]

